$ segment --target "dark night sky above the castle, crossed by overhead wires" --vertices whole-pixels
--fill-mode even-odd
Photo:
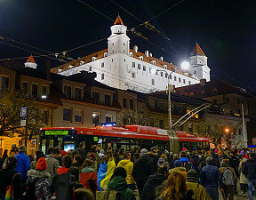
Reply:
[[[140,25],[140,20],[152,19],[180,2],[180,0],[115,0],[117,4],[140,19],[137,20],[110,0],[83,1],[112,20],[116,20],[119,12],[128,29]],[[131,48],[136,44],[140,52],[148,50],[154,57],[163,56],[164,60],[178,66],[182,60],[188,60],[197,41],[208,57],[208,66],[212,69],[213,78],[232,81],[252,92],[252,89],[256,90],[255,11],[255,0],[185,0],[150,21],[161,34],[143,26],[136,29],[142,36],[147,37],[150,43],[131,33],[128,33],[128,36],[131,38]],[[112,20],[77,0],[0,0],[0,36],[48,52],[63,52],[107,38],[110,36]],[[40,54],[46,53],[6,39],[0,38],[0,42]],[[73,59],[77,59],[105,49],[107,45],[106,39],[68,54]],[[30,52],[0,43],[0,60],[29,55]],[[43,58],[35,58],[35,60],[39,64],[43,63]],[[60,64],[63,63],[52,60],[52,67]],[[40,67],[42,66],[41,64]]]

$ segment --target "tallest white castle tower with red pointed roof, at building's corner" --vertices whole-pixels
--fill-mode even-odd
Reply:
[[[108,55],[123,53],[129,55],[130,38],[126,36],[127,27],[118,15],[114,25],[111,27],[111,36],[108,37]]]

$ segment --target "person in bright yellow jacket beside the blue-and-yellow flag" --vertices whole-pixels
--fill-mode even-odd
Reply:
[[[133,163],[131,161],[131,154],[130,153],[125,153],[124,154],[124,160],[121,160],[118,164],[117,167],[123,167],[124,170],[126,171],[126,182],[128,184],[128,188],[131,188],[132,190],[135,188],[134,184],[134,179],[132,177],[132,169],[133,169]]]

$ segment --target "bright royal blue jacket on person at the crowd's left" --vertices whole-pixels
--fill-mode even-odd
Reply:
[[[20,172],[22,180],[27,180],[27,173],[28,173],[28,170],[30,169],[29,157],[26,154],[21,152],[15,155],[15,157],[17,158],[17,167],[15,170],[17,172]]]

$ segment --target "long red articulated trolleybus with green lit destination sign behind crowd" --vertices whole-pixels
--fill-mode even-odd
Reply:
[[[78,148],[84,142],[86,150],[93,144],[102,144],[102,148],[130,149],[132,147],[158,147],[178,153],[182,148],[210,148],[210,141],[195,137],[186,132],[173,132],[150,126],[124,125],[123,127],[97,126],[94,128],[53,127],[42,128],[40,133],[40,148],[44,151],[50,147],[68,149]]]

